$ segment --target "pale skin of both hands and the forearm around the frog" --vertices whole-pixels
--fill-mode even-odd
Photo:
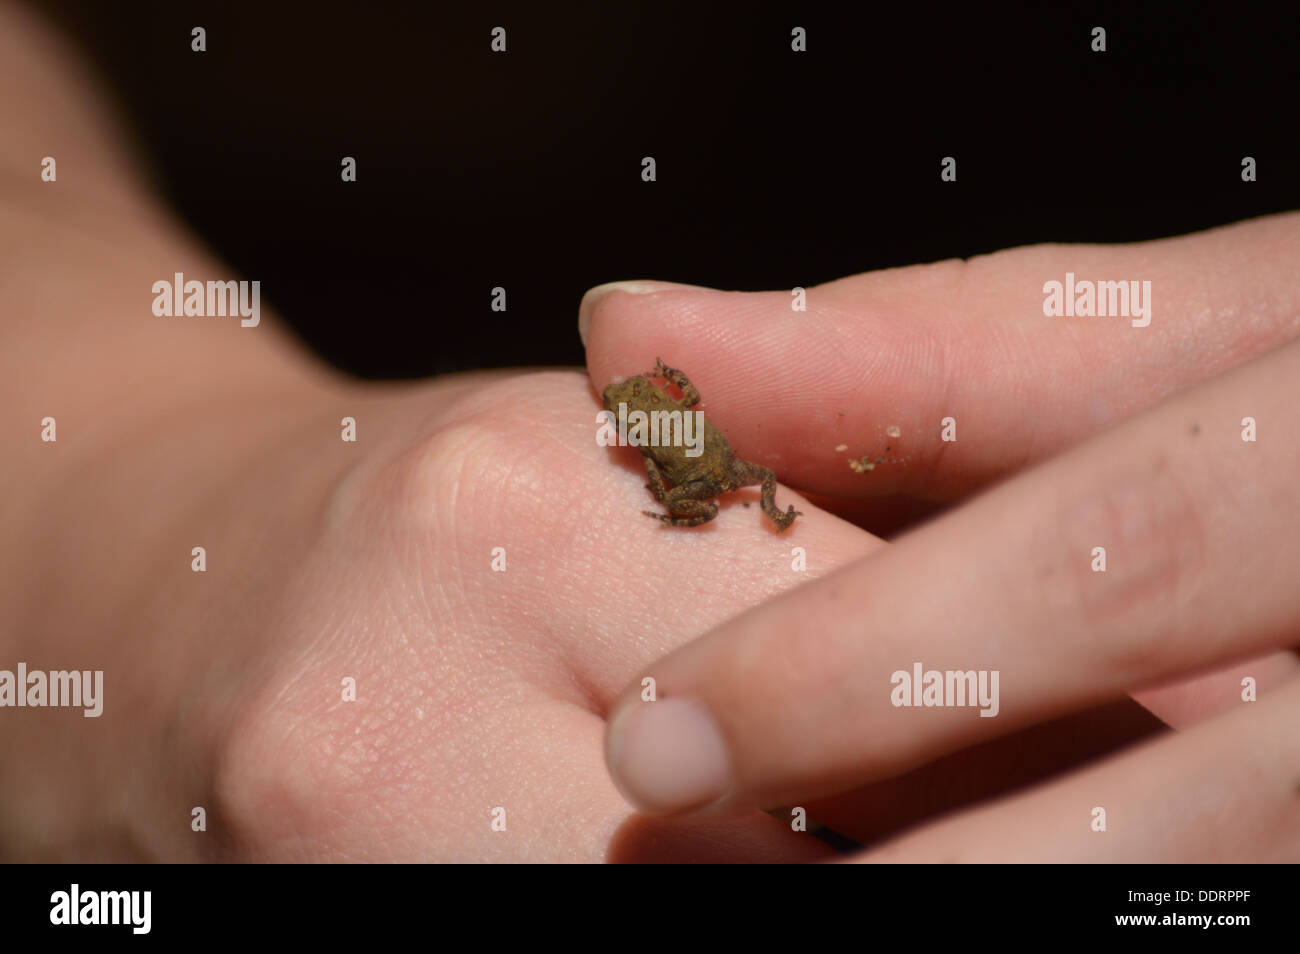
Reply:
[[[776,803],[872,840],[870,858],[1294,860],[1296,216],[858,276],[810,289],[798,322],[786,291],[590,295],[590,380],[363,385],[265,308],[256,329],[153,317],[159,278],[243,276],[164,211],[72,57],[12,8],[0,64],[0,665],[105,671],[98,720],[0,711],[6,860],[827,857],[758,811]],[[1035,317],[1066,270],[1153,279],[1156,320]],[[884,543],[780,487],[805,516],[776,534],[738,506],[749,489],[662,532],[636,455],[592,425],[598,389],[660,354],[737,454],[818,502],[867,525],[898,493],[953,509]],[[914,438],[946,415],[957,445]],[[1243,447],[1245,415],[1261,437]],[[914,441],[909,463],[850,471],[880,421]],[[1152,532],[1124,537],[1147,512]],[[1113,556],[1092,589],[1066,548],[1096,535],[1080,513],[1145,563]],[[1170,568],[1148,538],[1195,559]],[[871,682],[900,656],[963,654],[1002,671],[997,719],[920,719]],[[647,818],[620,794],[607,721],[647,673],[723,725],[728,812]],[[1239,702],[1245,673],[1257,703]],[[900,772],[1049,716],[1109,702],[1080,717],[1118,747],[1134,693],[1179,732],[879,829],[872,806],[958,777]],[[1030,753],[988,742],[961,798],[996,788],[998,751],[1084,756],[1078,733],[1043,732]],[[1121,837],[1089,840],[1097,803],[1127,816]]]

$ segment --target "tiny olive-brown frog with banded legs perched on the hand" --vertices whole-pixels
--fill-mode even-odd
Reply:
[[[681,400],[675,400],[650,381],[660,378],[681,389]],[[688,408],[699,403],[699,391],[675,368],[668,368],[663,359],[655,359],[654,370],[637,374],[623,382],[611,383],[603,394],[604,409],[619,417],[619,406],[625,413],[644,411],[680,411],[682,417],[692,413]],[[625,420],[625,419],[624,419]],[[651,419],[653,420],[653,419]],[[708,421],[705,421],[703,452],[692,458],[685,446],[644,446],[638,447],[645,460],[650,482],[646,489],[654,499],[668,508],[667,513],[641,511],[646,516],[662,520],[670,526],[698,526],[718,516],[719,494],[740,487],[762,485],[763,512],[772,519],[779,530],[803,516],[790,507],[784,513],[776,506],[776,474],[759,464],[751,464],[736,456],[727,438]]]

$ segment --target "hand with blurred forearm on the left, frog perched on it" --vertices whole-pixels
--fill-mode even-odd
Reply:
[[[0,5],[0,53],[40,91],[0,95],[0,669],[104,673],[98,717],[3,710],[6,859],[818,855],[758,812],[634,818],[603,766],[634,671],[796,581],[758,511],[682,559],[577,372],[368,385],[269,309],[153,315],[234,273],[57,35]]]

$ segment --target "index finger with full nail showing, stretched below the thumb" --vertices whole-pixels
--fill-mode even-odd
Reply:
[[[1296,381],[1300,344],[682,647],[644,673],[659,702],[620,702],[611,771],[659,811],[789,803],[1288,645]],[[1271,437],[1243,442],[1243,415]],[[996,673],[1000,703],[904,706],[916,665]]]

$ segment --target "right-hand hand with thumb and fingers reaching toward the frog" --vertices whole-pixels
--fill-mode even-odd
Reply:
[[[629,794],[660,811],[801,805],[870,841],[889,833],[871,816],[881,793],[933,806],[923,782],[968,776],[982,759],[1005,776],[1008,740],[988,740],[1144,689],[1152,711],[1191,727],[1236,702],[1249,675],[1266,697],[1258,708],[958,816],[890,857],[1030,858],[1039,845],[1041,858],[1257,860],[1294,850],[1294,821],[1282,820],[1294,759],[1279,738],[1297,690],[1279,686],[1297,665],[1290,652],[1258,656],[1294,641],[1300,615],[1287,520],[1296,461],[1283,437],[1300,387],[1288,344],[1297,227],[1282,216],[1160,243],[898,269],[811,289],[806,315],[789,311],[788,292],[644,285],[589,296],[593,380],[630,355],[694,364],[701,390],[718,395],[711,420],[741,454],[780,455],[784,478],[823,494],[963,500],[1132,416],[638,673],[675,702],[644,704],[636,686],[620,703],[610,759]],[[1044,317],[1043,283],[1066,272],[1150,279],[1154,320]],[[744,359],[728,354],[741,335]],[[956,443],[937,439],[946,416]],[[1243,442],[1245,416],[1270,421],[1273,439]],[[750,419],[762,430],[746,429]],[[885,437],[887,424],[901,439]],[[887,441],[904,463],[866,474],[845,465]],[[848,454],[832,450],[844,443]],[[1091,569],[1093,546],[1108,547],[1105,573]],[[1000,671],[1001,714],[894,707],[890,676],[915,662]],[[1091,740],[1084,724],[1084,740],[1113,734],[1117,714],[1106,712]],[[950,755],[978,742],[979,755]],[[945,755],[949,771],[937,773]],[[1158,771],[1136,772],[1135,759]],[[1164,815],[1145,818],[1153,793]],[[1108,803],[1128,824],[1140,818],[1145,837],[1089,838],[1089,812]],[[1008,831],[1013,819],[1020,828]]]

